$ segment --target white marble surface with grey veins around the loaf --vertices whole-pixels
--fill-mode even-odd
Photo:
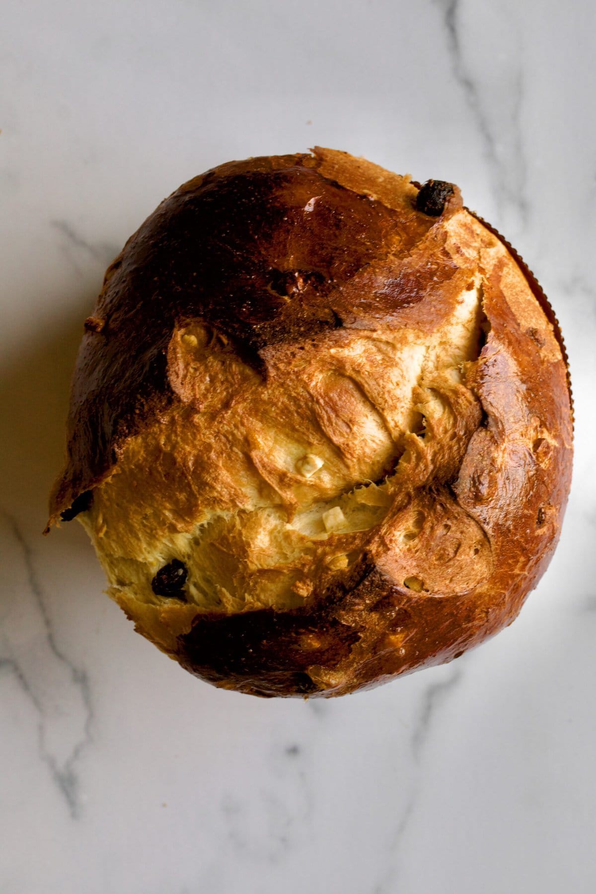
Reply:
[[[596,890],[592,0],[4,0],[2,894]],[[567,337],[575,487],[519,620],[332,702],[192,679],[44,538],[81,320],[157,202],[320,143],[457,181]]]

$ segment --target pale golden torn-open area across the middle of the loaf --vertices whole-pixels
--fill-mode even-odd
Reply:
[[[130,439],[81,517],[113,595],[164,603],[151,581],[172,559],[203,611],[290,608],[345,574],[400,493],[444,461],[440,445],[456,450],[458,408],[474,402],[463,365],[478,356],[482,322],[475,281],[430,335],[341,330],[266,383],[200,327],[178,333],[182,421]],[[404,526],[393,549],[419,592],[407,555],[424,514]]]

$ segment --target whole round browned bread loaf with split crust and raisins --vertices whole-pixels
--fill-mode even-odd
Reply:
[[[457,187],[323,148],[222,164],[130,238],[85,330],[49,525],[82,522],[198,677],[339,696],[449,662],[546,568],[565,350]]]

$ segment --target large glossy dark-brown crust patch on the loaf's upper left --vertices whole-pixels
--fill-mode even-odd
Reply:
[[[432,226],[413,209],[405,226],[403,214],[314,164],[308,155],[223,164],[165,199],[108,267],[77,359],[69,462],[55,484],[50,525],[172,401],[166,351],[178,321],[214,325],[264,375],[265,348],[341,325],[353,316],[343,286],[392,242],[405,254]],[[422,297],[414,281],[383,288],[391,291],[379,296],[381,307],[408,289],[409,300],[416,290]]]

